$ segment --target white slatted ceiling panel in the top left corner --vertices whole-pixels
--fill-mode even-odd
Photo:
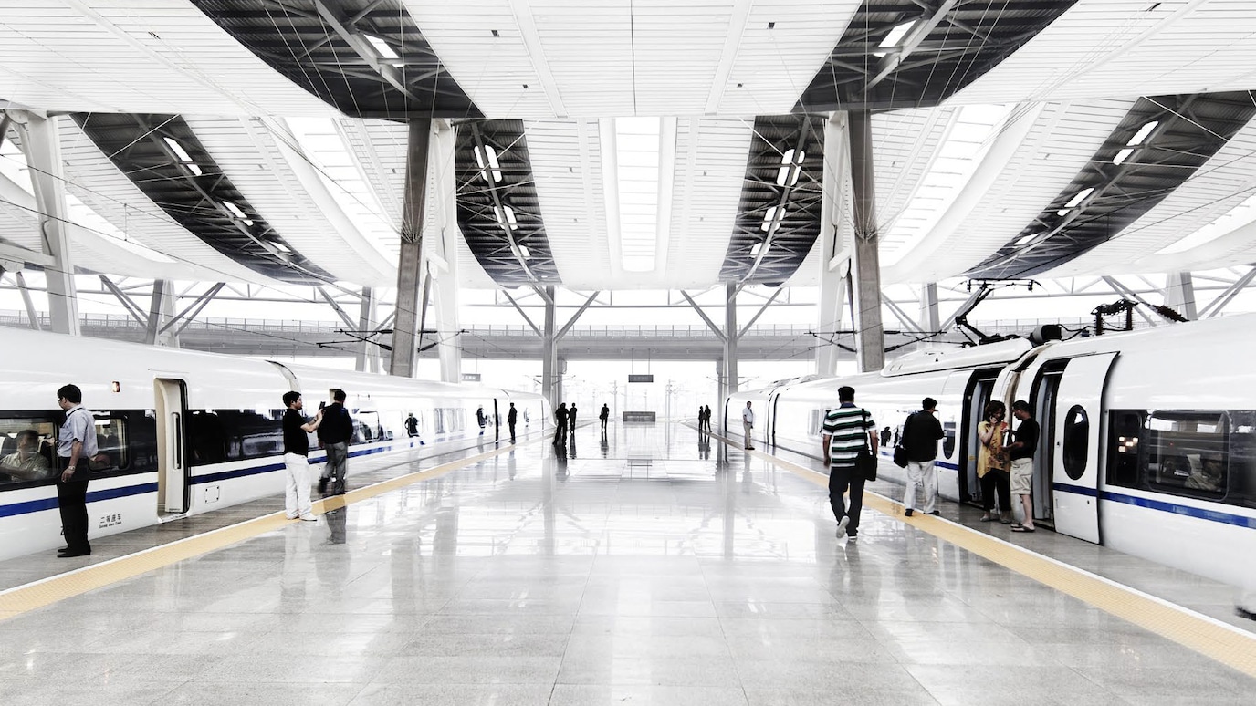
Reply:
[[[0,95],[73,112],[333,114],[191,3],[9,0]]]

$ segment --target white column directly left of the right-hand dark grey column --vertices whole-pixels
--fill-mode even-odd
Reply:
[[[847,114],[833,113],[824,124],[824,191],[820,193],[820,307],[816,330],[829,332],[842,328],[842,310],[845,305],[849,250],[849,227],[845,219],[845,185],[850,175],[850,146],[847,139]],[[833,376],[838,372],[838,347],[819,345],[815,349],[815,372]]]

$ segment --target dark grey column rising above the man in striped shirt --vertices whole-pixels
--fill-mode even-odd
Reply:
[[[885,364],[885,329],[880,322],[880,253],[877,237],[877,193],[872,155],[872,113],[848,114],[850,132],[850,188],[854,222],[855,345],[859,371]]]

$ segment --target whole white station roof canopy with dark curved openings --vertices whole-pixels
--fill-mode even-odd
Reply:
[[[463,286],[806,285],[870,111],[885,283],[1248,264],[1253,59],[1201,0],[15,0],[0,255],[35,112],[87,271],[392,286],[430,119]]]

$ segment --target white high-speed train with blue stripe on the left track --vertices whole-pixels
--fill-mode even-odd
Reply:
[[[53,461],[67,383],[95,416],[92,539],[283,492],[281,397],[293,389],[309,416],[330,389],[345,391],[349,475],[509,438],[511,402],[520,435],[553,425],[539,394],[19,329],[0,333],[0,559],[62,544],[54,474],[4,460],[33,430]],[[311,435],[310,462],[323,460]]]

